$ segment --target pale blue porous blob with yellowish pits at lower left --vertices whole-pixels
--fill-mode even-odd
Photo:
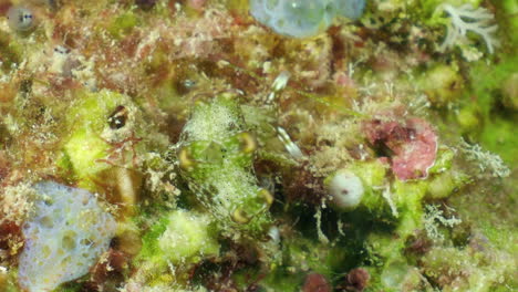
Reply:
[[[116,221],[84,189],[37,184],[34,213],[23,226],[18,281],[28,292],[52,291],[86,274],[115,236]]]

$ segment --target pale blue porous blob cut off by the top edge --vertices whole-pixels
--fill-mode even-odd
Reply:
[[[365,0],[250,0],[250,13],[279,34],[307,38],[325,30],[335,17],[358,19]]]

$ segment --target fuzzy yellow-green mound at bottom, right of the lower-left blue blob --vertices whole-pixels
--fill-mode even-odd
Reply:
[[[135,258],[137,279],[157,291],[184,291],[190,269],[218,257],[217,231],[207,215],[183,209],[164,212],[143,237]]]

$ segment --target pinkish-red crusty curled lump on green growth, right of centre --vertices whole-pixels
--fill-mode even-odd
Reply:
[[[432,125],[421,118],[404,122],[371,119],[364,132],[374,146],[388,148],[387,157],[394,175],[401,180],[426,178],[437,154],[437,135]]]

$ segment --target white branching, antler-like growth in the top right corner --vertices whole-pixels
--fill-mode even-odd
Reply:
[[[493,54],[495,46],[498,45],[498,40],[495,39],[498,27],[493,23],[495,15],[487,9],[475,9],[472,4],[464,4],[458,8],[450,4],[441,4],[437,7],[437,11],[445,11],[452,20],[447,25],[446,39],[441,45],[441,51],[452,48],[460,38],[466,36],[466,32],[470,31],[484,39],[487,50]]]

